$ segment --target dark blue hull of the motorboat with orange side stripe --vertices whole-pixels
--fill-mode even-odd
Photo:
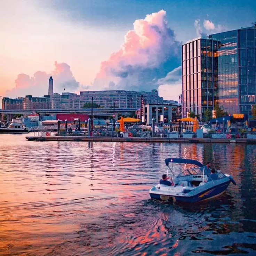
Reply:
[[[170,200],[183,203],[196,203],[204,200],[209,200],[223,194],[226,191],[227,187],[229,186],[230,182],[231,181],[229,180],[225,183],[218,184],[192,196],[167,195],[154,193],[152,190],[150,190],[150,197],[152,199],[163,201]]]

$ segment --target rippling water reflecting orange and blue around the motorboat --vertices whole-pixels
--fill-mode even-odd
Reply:
[[[0,135],[0,255],[256,255],[256,145]],[[230,170],[216,200],[153,201],[167,157]]]

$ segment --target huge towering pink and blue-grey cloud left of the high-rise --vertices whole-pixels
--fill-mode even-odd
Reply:
[[[101,63],[94,80],[97,89],[152,90],[157,80],[181,62],[181,43],[168,27],[166,12],[137,19],[121,49]]]

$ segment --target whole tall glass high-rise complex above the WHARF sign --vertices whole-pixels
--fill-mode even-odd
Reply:
[[[255,104],[256,26],[196,38],[182,46],[183,116],[218,104],[251,117]]]

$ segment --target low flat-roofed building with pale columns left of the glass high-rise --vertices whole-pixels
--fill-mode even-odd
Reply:
[[[176,119],[175,104],[146,104],[144,105],[145,122],[152,125],[152,118],[155,123],[169,123],[170,120]]]

